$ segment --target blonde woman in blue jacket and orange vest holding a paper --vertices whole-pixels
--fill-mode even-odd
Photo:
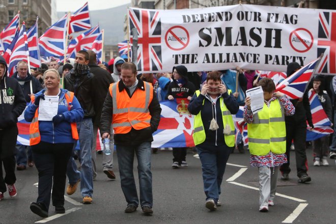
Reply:
[[[83,119],[83,109],[74,94],[60,89],[60,74],[49,69],[43,74],[46,90],[32,96],[24,111],[24,119],[32,122],[30,144],[39,172],[37,202],[31,210],[41,217],[48,217],[52,189],[52,205],[56,213],[65,213],[64,191],[67,163],[75,140],[78,139],[76,122]],[[58,103],[54,108],[52,103]],[[54,108],[54,109],[52,109]]]

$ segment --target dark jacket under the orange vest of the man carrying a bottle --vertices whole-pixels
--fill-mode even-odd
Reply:
[[[119,92],[122,92],[125,89],[127,94],[130,96],[130,92],[128,88],[125,87],[124,82],[122,80],[120,80],[117,85],[119,85]],[[135,91],[145,91],[144,85],[145,85],[144,81],[138,79]],[[130,97],[132,100],[132,96]],[[153,99],[152,102],[149,104],[148,109],[150,115],[152,116],[150,122],[151,126],[141,130],[135,130],[134,128],[132,128],[131,131],[126,134],[114,134],[115,144],[133,146],[133,145],[139,145],[141,143],[153,142],[152,133],[156,131],[157,127],[159,126],[160,114],[161,114],[160,103],[156,98],[154,90],[153,90]],[[110,126],[113,115],[112,111],[113,111],[112,97],[110,93],[107,93],[103,110],[101,113],[100,134],[103,134],[105,132],[110,134]]]

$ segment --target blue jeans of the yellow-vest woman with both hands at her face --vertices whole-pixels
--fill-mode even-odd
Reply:
[[[213,199],[217,204],[220,195],[220,185],[225,168],[232,152],[227,145],[214,146],[202,143],[196,146],[202,163],[202,175],[206,200]]]

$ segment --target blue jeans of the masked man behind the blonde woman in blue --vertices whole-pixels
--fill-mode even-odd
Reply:
[[[84,119],[77,122],[80,146],[80,172],[73,157],[70,158],[67,166],[67,176],[69,184],[75,184],[80,179],[80,191],[82,197],[90,196],[93,193],[92,179],[92,157],[91,148],[93,144],[93,124],[92,119]],[[74,147],[76,144],[74,145]],[[80,175],[79,175],[80,174]]]

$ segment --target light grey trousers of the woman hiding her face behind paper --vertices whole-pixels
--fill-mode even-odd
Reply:
[[[259,171],[259,191],[260,207],[268,207],[268,201],[273,201],[276,191],[277,173],[279,166],[275,167],[258,167]]]

